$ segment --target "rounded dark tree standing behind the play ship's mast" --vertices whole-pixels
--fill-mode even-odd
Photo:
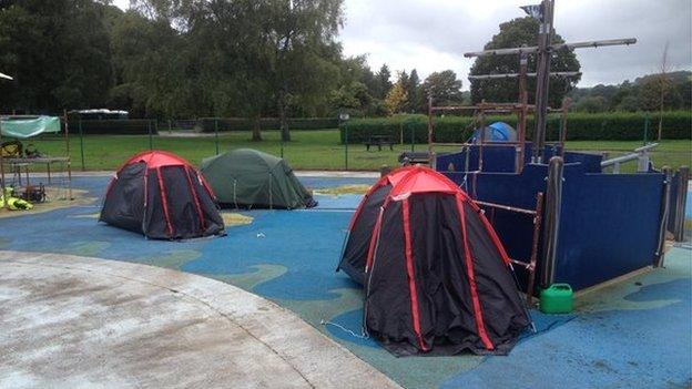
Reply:
[[[505,49],[526,45],[536,45],[538,42],[539,21],[527,17],[513,19],[500,24],[500,32],[492,37],[492,40],[485,45],[486,50]],[[553,43],[562,43],[564,40],[559,34],[554,34]],[[577,60],[573,50],[557,51],[551,61],[550,70],[553,72],[579,71],[581,65]],[[536,72],[536,55],[529,55],[529,72]],[[479,57],[471,66],[470,74],[499,74],[518,73],[518,55],[488,55]],[[550,78],[549,104],[560,106],[564,98],[579,82],[576,78]],[[527,81],[529,91],[529,103],[535,101],[536,78]],[[478,103],[481,100],[492,102],[516,102],[519,96],[519,81],[510,80],[471,80],[471,102]]]

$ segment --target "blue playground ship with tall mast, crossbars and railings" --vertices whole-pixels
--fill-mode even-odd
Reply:
[[[519,272],[527,297],[540,289],[566,283],[574,290],[661,266],[664,260],[666,229],[684,235],[684,196],[689,170],[673,175],[653,168],[644,145],[633,153],[603,161],[603,155],[569,152],[564,100],[559,110],[547,106],[550,53],[559,49],[632,44],[635,39],[552,44],[553,0],[532,6],[531,16],[540,20],[536,47],[497,49],[466,53],[519,57],[520,72],[487,74],[487,80],[519,78],[518,103],[482,101],[474,106],[436,106],[428,101],[428,158],[430,165],[459,185],[489,215],[509,257]],[[536,105],[528,104],[527,55],[538,54]],[[472,111],[484,131],[487,113],[518,116],[517,142],[459,144],[457,153],[437,155],[435,115],[442,112]],[[558,142],[546,142],[546,115],[561,113]],[[535,142],[527,142],[527,115],[536,116]],[[618,174],[620,164],[639,161],[640,173]],[[614,174],[603,173],[613,166]],[[683,188],[684,187],[684,188]]]

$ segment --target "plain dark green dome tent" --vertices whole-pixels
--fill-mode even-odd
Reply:
[[[282,158],[238,149],[202,161],[202,174],[224,206],[304,208],[317,203]]]

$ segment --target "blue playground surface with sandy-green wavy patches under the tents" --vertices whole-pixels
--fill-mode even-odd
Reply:
[[[98,198],[91,205],[0,218],[0,249],[143,263],[236,285],[296,313],[407,388],[692,385],[689,244],[672,248],[664,268],[580,297],[574,314],[532,311],[538,332],[526,334],[507,357],[396,358],[360,337],[360,288],[335,273],[360,195],[316,195],[319,206],[308,211],[240,212],[252,217],[252,223],[228,227],[225,237],[161,242],[96,222],[109,180],[73,180],[75,187]],[[311,188],[327,188],[375,180],[301,181]]]

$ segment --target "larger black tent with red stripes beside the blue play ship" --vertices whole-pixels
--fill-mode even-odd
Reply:
[[[492,226],[427,167],[394,171],[370,188],[339,269],[365,285],[367,332],[399,356],[505,355],[530,323]]]

